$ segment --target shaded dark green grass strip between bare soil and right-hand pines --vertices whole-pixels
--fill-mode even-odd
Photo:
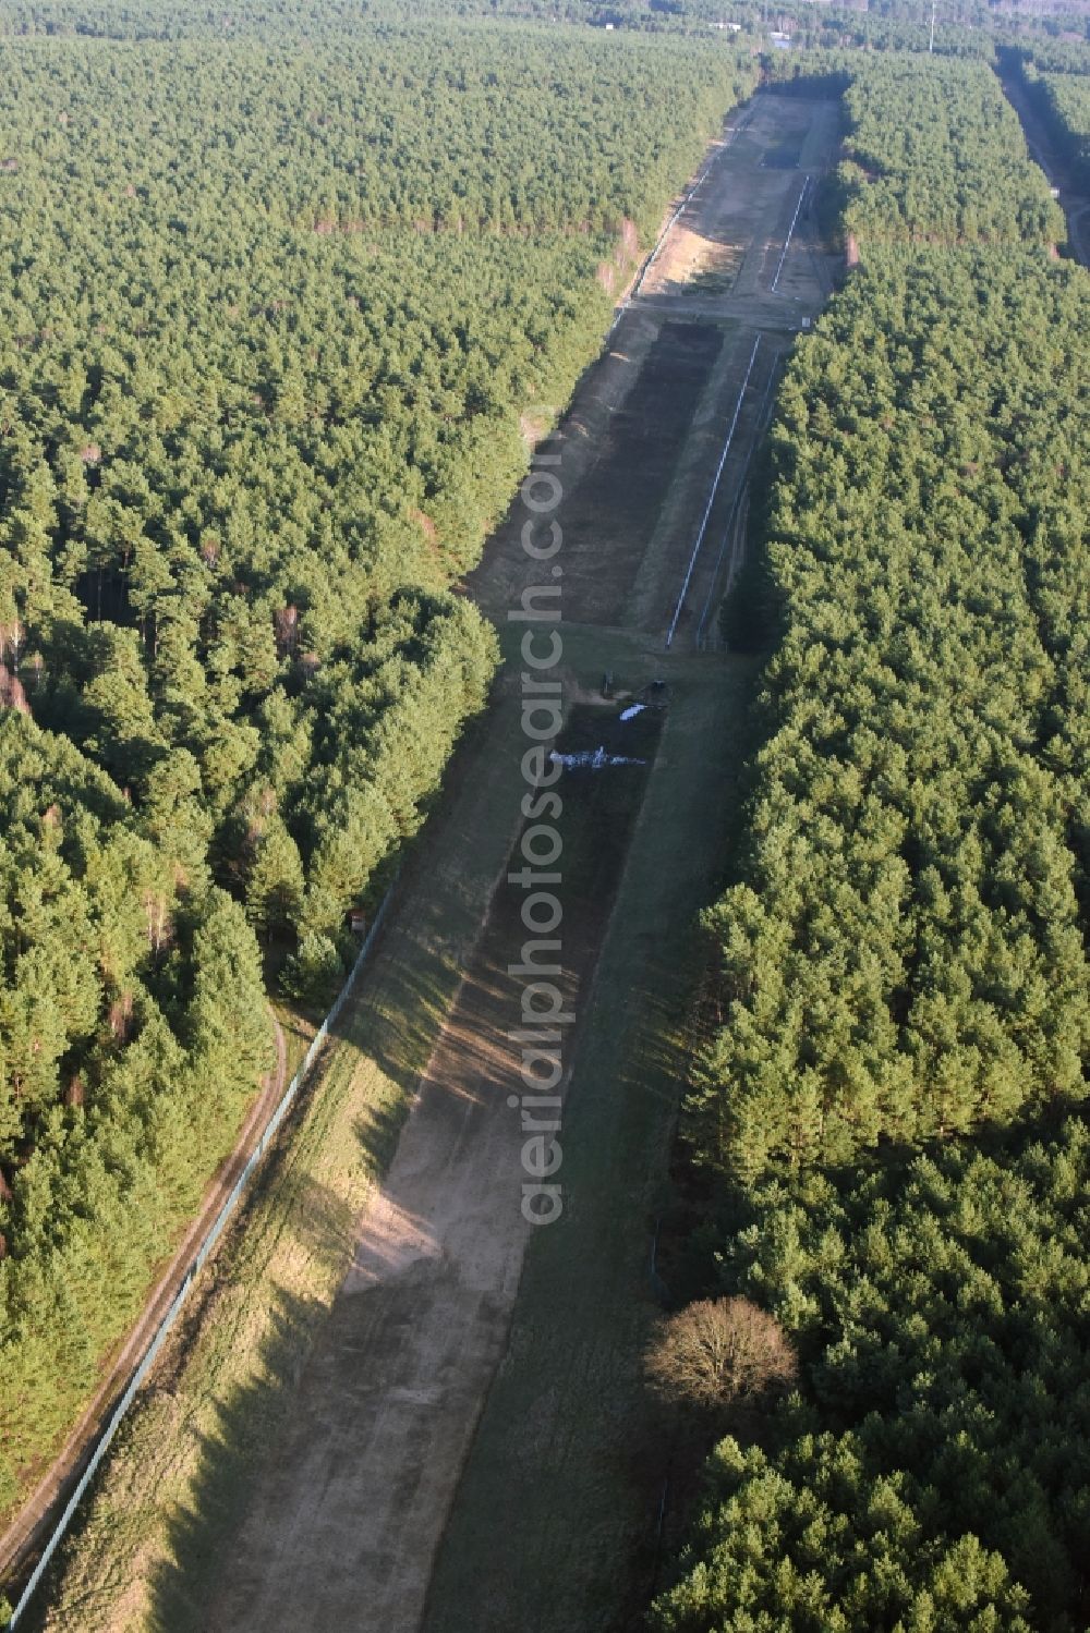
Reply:
[[[698,975],[691,921],[735,820],[755,665],[650,658],[596,630],[565,630],[565,655],[613,668],[618,686],[660,673],[672,701],[583,999],[561,1137],[565,1213],[531,1238],[425,1633],[626,1626],[654,1571],[665,1448],[631,1453],[649,1434],[649,1257]]]

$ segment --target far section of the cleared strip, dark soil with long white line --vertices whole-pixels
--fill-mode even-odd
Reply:
[[[546,451],[562,459],[564,586],[569,621],[641,629],[670,625],[727,426],[737,431],[678,619],[675,643],[696,642],[701,614],[722,593],[714,563],[768,407],[766,389],[806,318],[820,310],[838,263],[817,238],[814,186],[838,139],[835,103],[760,95],[721,145],[681,212],[608,351],[579,390]],[[768,167],[784,144],[807,167]],[[791,245],[784,243],[799,211]],[[773,294],[771,284],[778,278]],[[523,511],[500,527],[469,578],[474,599],[502,619],[526,583]],[[547,580],[541,568],[536,581]],[[703,643],[703,642],[701,642]]]

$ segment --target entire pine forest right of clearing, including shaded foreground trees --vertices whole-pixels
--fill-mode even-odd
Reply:
[[[797,1375],[755,1413],[724,1365],[650,1625],[1061,1633],[1090,1540],[1090,279],[987,70],[848,73],[861,265],[771,431],[744,611],[775,652],[683,1127],[690,1274],[775,1316]]]

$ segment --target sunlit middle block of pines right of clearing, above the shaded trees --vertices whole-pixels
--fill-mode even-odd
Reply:
[[[714,911],[703,1145],[739,1172],[1083,1092],[1088,322],[1039,256],[879,258],[796,354],[771,732]]]

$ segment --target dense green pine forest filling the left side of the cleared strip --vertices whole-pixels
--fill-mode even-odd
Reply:
[[[273,1065],[263,955],[335,990],[489,691],[451,585],[755,72],[72,16],[0,42],[0,1506]]]

